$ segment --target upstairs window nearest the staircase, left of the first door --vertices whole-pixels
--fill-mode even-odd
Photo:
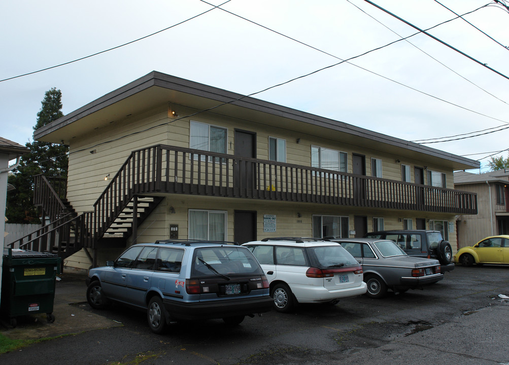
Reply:
[[[189,126],[189,148],[219,154],[226,153],[227,129],[192,121]]]

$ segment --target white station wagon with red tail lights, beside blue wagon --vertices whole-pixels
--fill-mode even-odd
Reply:
[[[297,303],[336,304],[366,292],[362,267],[335,242],[281,237],[242,246],[260,262],[278,312],[291,312]]]

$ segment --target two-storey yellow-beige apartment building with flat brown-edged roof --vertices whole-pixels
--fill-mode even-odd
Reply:
[[[433,227],[454,247],[456,215],[477,211],[475,194],[453,189],[453,170],[476,161],[158,72],[34,139],[70,147],[72,207],[48,212],[55,194],[42,177],[35,195],[52,220],[78,214],[67,240],[83,248],[66,260],[74,267],[164,238]]]

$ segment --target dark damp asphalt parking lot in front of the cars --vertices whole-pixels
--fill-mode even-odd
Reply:
[[[302,305],[233,328],[177,323],[163,336],[142,312],[91,309],[85,290],[84,277],[64,273],[54,323],[2,329],[10,337],[62,337],[2,354],[0,364],[509,364],[509,266],[457,266],[424,290]]]

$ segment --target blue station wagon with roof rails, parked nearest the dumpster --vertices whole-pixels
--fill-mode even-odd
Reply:
[[[170,321],[245,316],[271,310],[269,283],[251,252],[232,242],[166,240],[128,248],[106,266],[90,269],[87,300],[111,301],[147,311],[155,333]]]

